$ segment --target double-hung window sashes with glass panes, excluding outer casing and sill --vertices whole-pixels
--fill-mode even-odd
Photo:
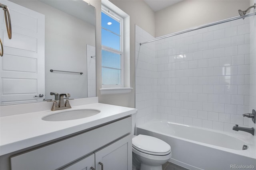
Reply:
[[[102,87],[124,87],[123,18],[102,6]]]

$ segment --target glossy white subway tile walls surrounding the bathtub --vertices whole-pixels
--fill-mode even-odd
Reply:
[[[154,37],[136,25],[137,123],[160,119],[231,133],[235,124],[254,126],[242,116],[256,104],[256,36],[249,20],[141,46]]]

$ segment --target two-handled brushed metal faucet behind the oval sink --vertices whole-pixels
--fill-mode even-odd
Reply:
[[[51,111],[55,111],[55,110],[62,110],[62,109],[69,109],[71,108],[68,99],[66,99],[66,102],[64,103],[64,96],[66,96],[67,98],[70,97],[70,94],[60,94],[60,100],[59,98],[59,94],[55,93],[55,92],[50,92],[50,95],[54,95],[54,102],[52,104],[52,109]],[[59,100],[59,103],[57,103],[57,100]]]

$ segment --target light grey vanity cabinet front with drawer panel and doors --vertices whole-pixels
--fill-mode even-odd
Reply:
[[[10,157],[11,170],[130,170],[132,118],[126,117]],[[2,169],[1,169],[2,170]],[[3,169],[4,170],[4,169]]]

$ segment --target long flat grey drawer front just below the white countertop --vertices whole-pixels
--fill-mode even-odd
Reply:
[[[80,135],[11,157],[12,170],[53,170],[130,133],[132,118],[98,127]]]

